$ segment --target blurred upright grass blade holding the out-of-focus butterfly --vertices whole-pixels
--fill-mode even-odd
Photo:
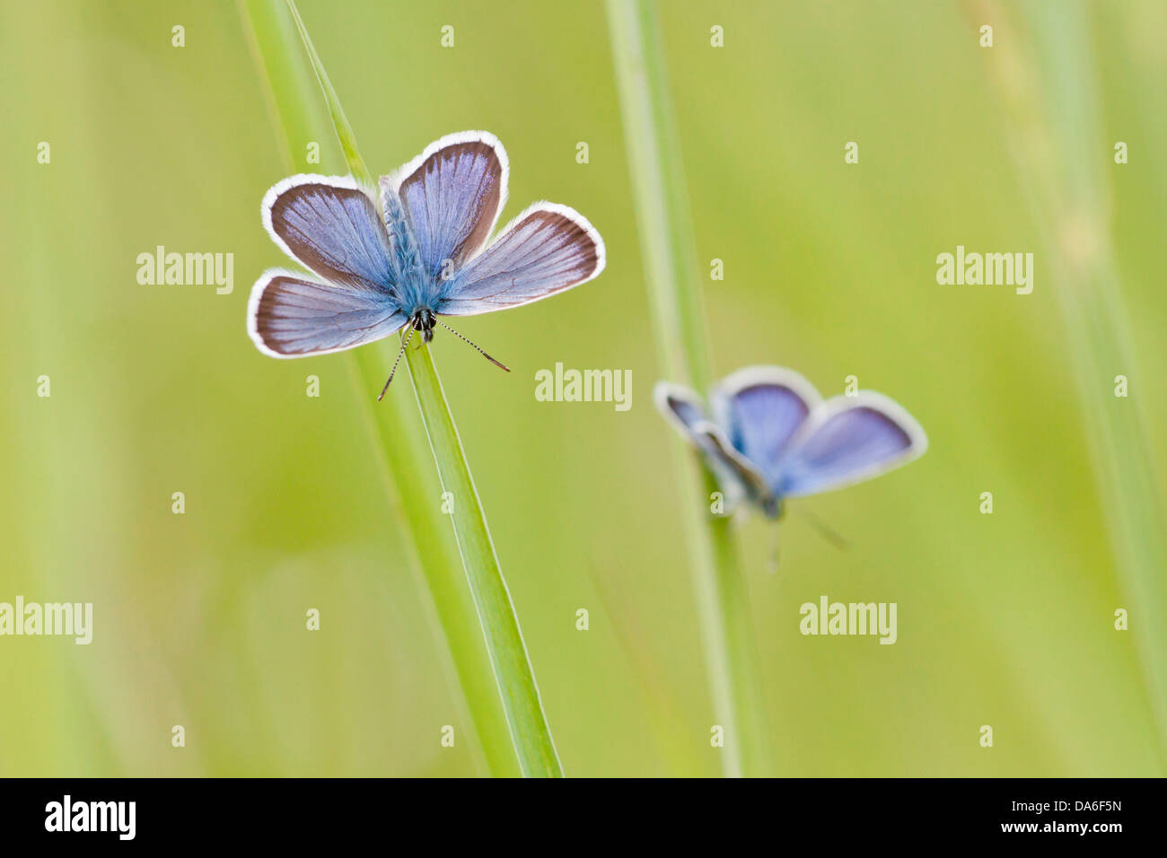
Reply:
[[[608,22],[661,369],[665,378],[704,391],[705,312],[656,4],[608,0]],[[729,776],[767,775],[770,752],[736,542],[729,519],[708,512],[706,498],[718,490],[713,475],[679,441],[672,454],[714,714],[725,728],[722,769]]]

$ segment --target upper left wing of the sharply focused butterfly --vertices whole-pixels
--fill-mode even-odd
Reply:
[[[298,175],[264,197],[264,226],[296,261],[331,284],[396,294],[389,233],[377,204],[344,176]]]

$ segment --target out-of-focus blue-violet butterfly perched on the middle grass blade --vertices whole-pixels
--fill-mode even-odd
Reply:
[[[745,500],[770,518],[787,497],[868,480],[928,449],[920,424],[886,396],[865,390],[823,402],[782,367],[747,367],[714,385],[712,418],[687,388],[658,382],[654,396],[705,456],[727,509]]]

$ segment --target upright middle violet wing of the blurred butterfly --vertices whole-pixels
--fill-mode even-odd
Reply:
[[[782,367],[747,367],[711,393],[713,414],[734,449],[752,461],[777,491],[778,462],[791,437],[819,405],[813,385]]]

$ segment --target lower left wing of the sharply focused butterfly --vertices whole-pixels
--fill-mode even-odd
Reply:
[[[405,325],[397,302],[379,292],[265,271],[251,290],[247,333],[270,357],[307,357],[380,340]]]

